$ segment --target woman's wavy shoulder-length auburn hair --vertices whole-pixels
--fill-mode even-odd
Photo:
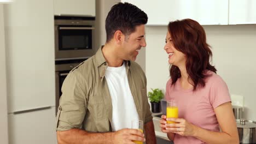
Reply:
[[[206,78],[211,76],[206,70],[216,73],[216,68],[210,64],[212,51],[206,43],[206,34],[203,27],[195,20],[184,19],[172,21],[168,24],[174,47],[184,53],[187,58],[186,69],[194,88],[205,87]],[[170,65],[172,85],[181,77],[181,71],[176,65]]]

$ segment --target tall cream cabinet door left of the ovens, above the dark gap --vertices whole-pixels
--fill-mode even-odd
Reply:
[[[4,5],[8,113],[55,106],[51,0]]]

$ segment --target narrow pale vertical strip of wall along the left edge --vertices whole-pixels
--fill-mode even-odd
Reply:
[[[6,64],[5,64],[5,43],[4,43],[4,19],[3,4],[0,4],[0,141],[8,143],[8,122],[7,122],[7,88],[6,88]]]

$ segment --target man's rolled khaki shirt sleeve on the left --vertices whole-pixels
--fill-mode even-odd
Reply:
[[[69,73],[62,85],[56,130],[80,128],[85,117],[85,90],[78,73]]]

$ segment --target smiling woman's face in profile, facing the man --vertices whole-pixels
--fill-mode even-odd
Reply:
[[[167,32],[165,41],[164,49],[168,55],[168,62],[177,67],[184,66],[187,58],[184,53],[174,47],[170,32]]]

